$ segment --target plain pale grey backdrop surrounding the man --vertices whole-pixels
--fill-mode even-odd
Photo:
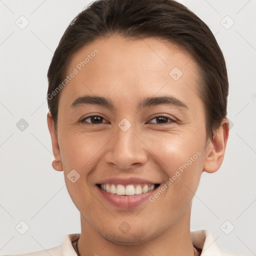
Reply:
[[[80,232],[63,172],[51,167],[46,72],[66,26],[89,2],[0,0],[0,254],[50,248]],[[212,30],[230,85],[226,155],[217,172],[202,174],[191,230],[209,229],[219,247],[256,255],[256,1],[180,2]]]

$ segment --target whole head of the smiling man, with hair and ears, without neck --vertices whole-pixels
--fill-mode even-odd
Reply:
[[[66,28],[47,75],[52,166],[81,221],[120,244],[189,226],[201,173],[220,167],[228,137],[227,72],[208,26],[172,0],[94,1]],[[119,207],[99,188],[115,178],[158,187]]]

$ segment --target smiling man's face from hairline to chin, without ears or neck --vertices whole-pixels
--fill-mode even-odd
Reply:
[[[189,225],[209,151],[191,55],[155,38],[111,36],[77,51],[71,72],[76,74],[60,92],[57,139],[82,225],[120,244]],[[76,100],[88,95],[104,97],[113,107]],[[148,97],[165,98],[138,105]],[[150,191],[150,184],[160,185]],[[125,189],[136,194],[122,195]]]

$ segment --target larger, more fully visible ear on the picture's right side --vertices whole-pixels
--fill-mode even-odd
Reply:
[[[223,118],[220,127],[214,133],[212,141],[209,141],[207,144],[203,171],[213,173],[221,166],[224,159],[228,133],[229,122],[227,118]]]

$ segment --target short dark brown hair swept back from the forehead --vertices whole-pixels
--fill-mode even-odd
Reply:
[[[205,107],[206,133],[212,139],[213,131],[226,117],[225,60],[209,27],[174,0],[95,0],[78,13],[62,35],[47,73],[47,103],[55,131],[60,93],[51,98],[48,95],[63,81],[75,51],[114,33],[127,38],[167,39],[190,52],[199,67],[198,95]]]

